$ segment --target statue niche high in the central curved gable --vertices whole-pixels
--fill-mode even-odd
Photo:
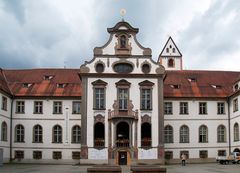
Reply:
[[[126,56],[131,55],[131,44],[129,44],[129,37],[130,35],[126,34],[119,34],[116,35],[118,37],[118,42],[115,44],[115,53],[118,56]]]

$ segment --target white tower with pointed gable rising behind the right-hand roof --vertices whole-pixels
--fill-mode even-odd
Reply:
[[[166,70],[182,70],[182,54],[172,37],[169,37],[162,52],[159,55],[158,62]]]

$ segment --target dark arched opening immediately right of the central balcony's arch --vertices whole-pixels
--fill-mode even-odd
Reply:
[[[141,145],[142,147],[151,147],[152,145],[152,128],[150,123],[141,125]]]

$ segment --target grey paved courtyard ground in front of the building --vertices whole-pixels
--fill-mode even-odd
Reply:
[[[167,173],[239,173],[240,165],[188,164],[167,165]],[[6,164],[0,166],[0,173],[86,173],[88,166],[72,165],[30,165]],[[123,173],[130,173],[129,167],[122,167]]]

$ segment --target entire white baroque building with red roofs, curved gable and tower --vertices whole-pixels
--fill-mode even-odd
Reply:
[[[207,162],[239,150],[240,72],[183,70],[171,37],[155,62],[138,28],[107,31],[80,69],[1,69],[4,162]]]

